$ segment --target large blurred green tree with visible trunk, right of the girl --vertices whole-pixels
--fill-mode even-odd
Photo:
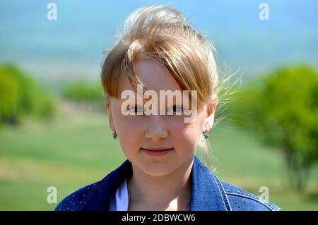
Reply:
[[[267,145],[283,150],[290,185],[304,190],[318,161],[318,72],[307,65],[279,68],[245,87],[232,104]]]

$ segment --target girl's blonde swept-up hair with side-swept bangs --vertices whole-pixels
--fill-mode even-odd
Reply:
[[[218,95],[220,80],[213,44],[197,32],[179,11],[170,6],[142,7],[126,18],[124,29],[102,64],[105,99],[119,97],[118,80],[123,74],[136,85],[143,81],[134,73],[136,59],[151,57],[165,64],[182,90],[197,91],[197,106]],[[146,87],[145,87],[146,88]],[[209,142],[201,135],[198,148],[211,167]]]

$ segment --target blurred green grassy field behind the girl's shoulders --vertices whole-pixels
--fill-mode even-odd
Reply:
[[[318,210],[318,166],[305,193],[288,188],[283,158],[278,150],[230,124],[221,122],[211,132],[218,176],[260,195],[283,210]],[[103,114],[60,114],[50,123],[25,121],[19,128],[0,130],[0,209],[52,210],[47,187],[57,188],[58,202],[67,194],[100,180],[124,162],[118,140],[112,139]]]

